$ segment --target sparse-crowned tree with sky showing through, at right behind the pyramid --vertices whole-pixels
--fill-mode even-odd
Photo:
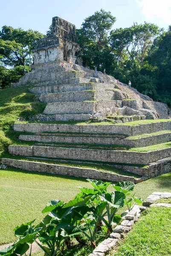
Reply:
[[[162,29],[152,23],[134,23],[129,28],[111,31],[110,45],[118,60],[124,60],[128,55],[132,66],[141,70],[148,49],[161,32]]]

